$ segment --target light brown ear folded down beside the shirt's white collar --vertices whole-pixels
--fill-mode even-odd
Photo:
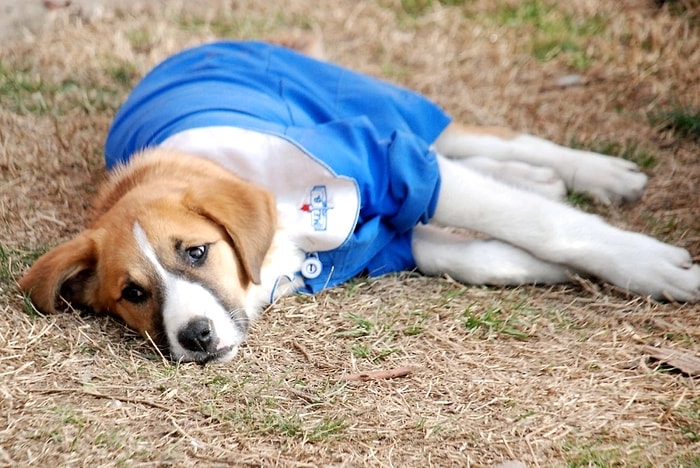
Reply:
[[[222,178],[190,189],[184,204],[223,226],[245,275],[254,284],[260,284],[260,269],[272,245],[277,222],[272,194],[237,178]]]

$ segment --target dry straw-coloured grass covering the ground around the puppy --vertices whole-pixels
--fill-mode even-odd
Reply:
[[[698,259],[698,143],[647,119],[700,105],[697,10],[645,0],[197,3],[92,21],[58,11],[45,34],[3,44],[0,465],[700,464],[698,381],[642,352],[699,355],[697,305],[587,281],[357,280],[283,301],[240,358],[204,368],[163,362],[111,319],[27,313],[14,281],[80,229],[107,126],[134,81],[190,44],[298,29],[321,33],[334,61],[422,91],[462,120],[653,157],[644,199],[604,214]],[[557,85],[571,73],[583,81]],[[401,366],[413,373],[340,380]]]

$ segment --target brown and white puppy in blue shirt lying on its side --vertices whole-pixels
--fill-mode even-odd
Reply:
[[[276,45],[218,42],[161,63],[117,113],[106,163],[89,227],[20,286],[42,312],[116,315],[174,360],[227,361],[276,298],[358,274],[581,274],[700,299],[687,251],[559,201],[567,189],[636,200],[635,164],[451,123],[418,94]]]

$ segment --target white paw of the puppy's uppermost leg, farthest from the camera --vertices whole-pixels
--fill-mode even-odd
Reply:
[[[590,151],[570,151],[571,167],[563,170],[572,190],[611,204],[635,201],[642,196],[647,176],[635,163]]]

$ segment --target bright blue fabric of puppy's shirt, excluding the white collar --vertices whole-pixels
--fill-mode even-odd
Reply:
[[[147,74],[117,112],[107,168],[196,128],[231,126],[283,138],[357,184],[354,230],[317,255],[317,292],[361,273],[415,268],[413,227],[432,217],[440,188],[430,145],[450,118],[425,97],[260,42],[216,42],[176,54]],[[241,174],[245,178],[245,174]],[[274,192],[274,188],[273,188]]]

